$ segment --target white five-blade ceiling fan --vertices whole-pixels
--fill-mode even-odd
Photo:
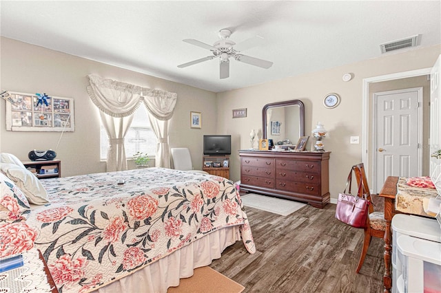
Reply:
[[[197,59],[194,61],[190,61],[181,65],[178,65],[179,68],[195,65],[197,63],[201,63],[204,61],[212,60],[216,57],[219,58],[220,63],[220,78],[229,77],[229,58],[234,58],[236,61],[247,63],[250,65],[254,65],[257,67],[262,67],[268,69],[273,65],[272,62],[266,61],[263,59],[255,58],[252,56],[247,56],[240,54],[243,50],[247,50],[250,47],[255,47],[262,43],[263,38],[261,36],[255,36],[254,38],[247,39],[241,43],[234,43],[234,41],[229,40],[229,36],[231,36],[232,32],[227,29],[223,29],[219,31],[219,41],[216,41],[213,45],[208,45],[201,41],[197,41],[195,39],[185,39],[183,40],[185,43],[189,43],[192,45],[196,45],[198,47],[203,47],[204,49],[212,51],[213,56],[207,56],[201,59]],[[234,47],[233,47],[234,46]]]

